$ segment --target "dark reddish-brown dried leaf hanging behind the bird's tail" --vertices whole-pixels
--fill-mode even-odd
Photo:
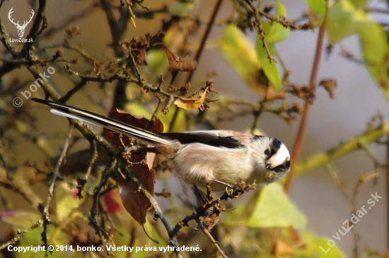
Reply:
[[[129,125],[134,125],[138,128],[146,129],[149,127],[150,121],[143,116],[132,116],[124,111],[112,111],[112,118]],[[159,119],[151,125],[150,131],[153,133],[162,133],[163,124]],[[120,147],[120,140],[110,130],[104,129],[104,137],[115,145]],[[124,145],[129,145],[130,138],[123,135],[122,142]],[[146,159],[145,153],[131,152],[132,162],[140,162]],[[156,173],[153,169],[150,169],[146,164],[135,165],[130,168],[132,173],[137,176],[139,182],[150,192],[151,196],[154,195],[154,180]],[[146,212],[151,209],[149,200],[144,196],[142,192],[138,191],[137,185],[134,182],[129,181],[127,176],[120,174],[118,178],[114,178],[120,189],[120,197],[124,208],[129,214],[140,224],[146,221]]]

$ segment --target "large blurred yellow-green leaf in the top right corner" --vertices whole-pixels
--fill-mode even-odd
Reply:
[[[339,26],[341,25],[341,26]],[[362,54],[366,66],[381,90],[389,100],[389,77],[387,61],[388,42],[383,27],[378,25],[363,10],[356,8],[349,0],[338,0],[328,12],[327,35],[335,44],[350,35],[361,38]]]

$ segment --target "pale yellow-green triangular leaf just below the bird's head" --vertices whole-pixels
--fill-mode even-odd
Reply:
[[[306,217],[291,202],[279,183],[267,185],[258,200],[248,226],[252,228],[283,228],[303,230]]]

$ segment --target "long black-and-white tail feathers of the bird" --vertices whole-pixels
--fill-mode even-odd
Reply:
[[[125,123],[115,121],[111,118],[105,118],[104,116],[100,116],[97,113],[92,113],[83,109],[76,109],[73,106],[67,106],[58,102],[50,102],[49,100],[44,99],[33,98],[33,101],[50,106],[52,108],[50,112],[54,113],[55,115],[73,118],[86,123],[92,123],[93,125],[100,125],[103,128],[107,128],[116,133],[122,133],[123,135],[127,135],[149,145],[156,145],[156,143],[171,143],[171,140],[166,137],[150,133],[149,131],[136,128],[132,125],[127,125]]]

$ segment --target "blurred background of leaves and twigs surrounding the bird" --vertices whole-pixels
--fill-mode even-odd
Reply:
[[[11,8],[21,21],[35,11],[24,34],[32,43],[12,42]],[[9,245],[115,244],[151,247],[117,257],[388,257],[388,11],[365,0],[1,0],[1,255],[43,255]],[[151,204],[141,226],[126,211],[140,212],[129,204],[137,188],[118,180],[120,156],[100,128],[54,117],[31,97],[104,116],[121,109],[165,132],[274,135],[293,154],[291,173],[205,209],[157,159],[155,188],[144,192],[155,192],[165,221]],[[361,213],[376,192],[383,199]],[[201,251],[158,249],[169,243]]]

